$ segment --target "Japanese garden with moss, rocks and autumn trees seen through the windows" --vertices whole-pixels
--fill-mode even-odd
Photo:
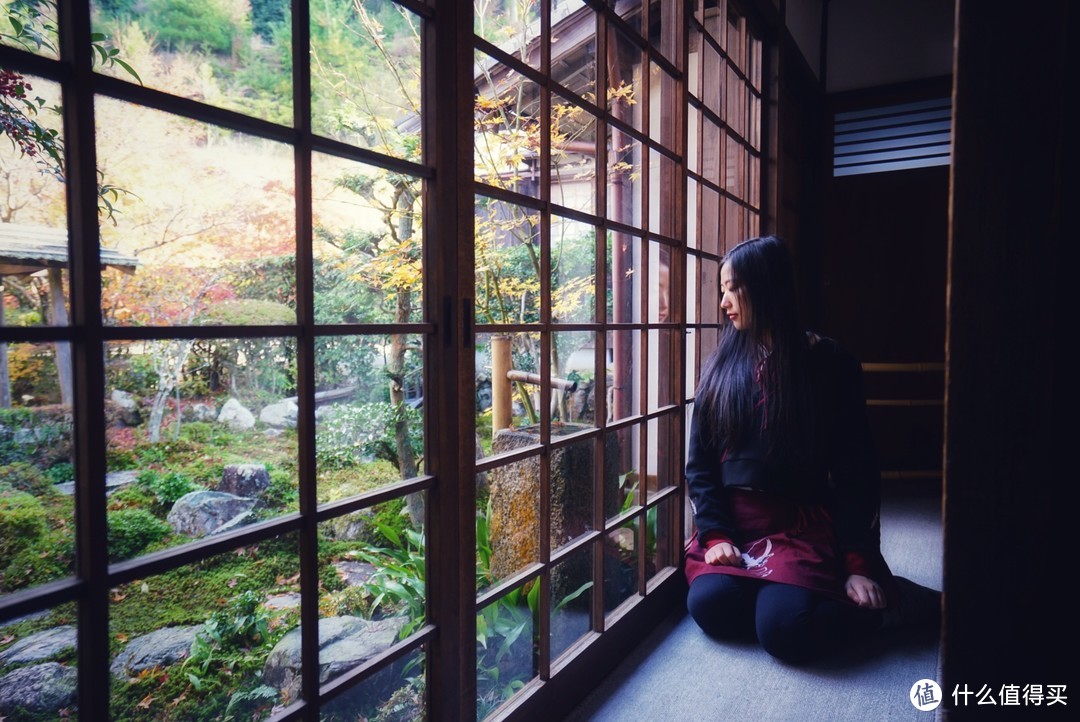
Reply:
[[[512,42],[521,26],[507,12],[510,5],[537,12],[531,0],[477,3],[477,32]],[[8,19],[0,31],[4,44],[55,56],[51,0],[0,0],[0,6]],[[93,12],[98,71],[271,123],[292,122],[286,0],[102,0]],[[311,12],[315,131],[419,163],[420,21],[382,0],[327,0],[312,3]],[[43,78],[3,73],[0,110],[13,124],[4,124],[10,147],[0,144],[6,179],[0,228],[15,239],[5,253],[23,254],[25,262],[9,270],[0,264],[0,324],[63,326],[71,303],[66,260],[46,258],[42,242],[29,250],[18,246],[27,229],[60,229],[66,254],[65,187],[55,182],[64,173],[64,138],[53,112],[59,88]],[[539,144],[530,105],[537,97],[494,66],[480,69],[476,82],[476,177],[518,189],[521,167]],[[612,101],[632,104],[633,93],[619,88]],[[106,349],[103,543],[109,561],[120,563],[299,509],[295,337],[288,330],[260,338],[167,332],[296,324],[296,193],[293,149],[284,144],[106,96],[97,98],[95,112],[103,263],[104,251],[116,254],[103,269],[102,317],[108,328],[165,329],[160,337],[119,333]],[[592,183],[595,168],[571,149],[595,140],[595,120],[570,103],[555,104],[552,112],[551,175],[566,207],[590,213],[580,187]],[[626,158],[612,163],[632,173]],[[164,166],[170,174],[159,172]],[[424,338],[364,330],[365,324],[407,329],[424,321],[422,178],[314,153],[312,182],[314,319],[356,329],[314,341],[314,480],[319,503],[328,504],[384,490],[424,468]],[[554,321],[595,322],[597,301],[611,317],[611,289],[599,299],[596,289],[597,265],[612,273],[611,240],[608,257],[597,258],[592,226],[557,219],[541,258],[538,232],[534,212],[477,196],[476,323],[537,323],[541,272],[551,274]],[[632,243],[640,254],[640,242]],[[590,394],[604,372],[596,367],[597,336],[552,333],[546,351],[539,333],[477,336],[478,458],[500,453],[495,439],[501,430],[536,428],[539,405],[549,403],[536,383],[544,365],[561,390],[549,414],[555,433],[595,426]],[[0,342],[0,595],[75,573],[66,346]],[[494,377],[501,382],[508,371],[509,389],[496,393]],[[629,458],[633,446],[627,437],[625,454],[609,457]],[[575,468],[572,459],[567,467]],[[604,475],[606,513],[627,512],[638,482],[633,465],[605,468]],[[591,475],[567,478],[568,499],[580,495],[580,483],[591,485]],[[480,485],[477,499],[482,591],[511,567],[500,546],[507,522],[490,486]],[[321,681],[423,625],[422,505],[420,494],[409,494],[320,523]],[[568,519],[566,539],[582,531]],[[636,521],[616,535],[630,541],[606,547],[606,603],[636,588],[637,556],[654,555],[648,540],[656,520],[646,522],[646,548],[634,548]],[[246,721],[296,699],[298,558],[299,540],[286,534],[111,589],[113,719]],[[552,656],[589,629],[591,569],[591,556],[581,553],[552,573]],[[537,675],[539,595],[539,584],[526,584],[477,614],[481,719]],[[78,624],[73,603],[0,622],[0,718],[78,718]],[[324,719],[419,719],[423,689],[419,650],[335,699]],[[23,695],[26,690],[32,694]]]

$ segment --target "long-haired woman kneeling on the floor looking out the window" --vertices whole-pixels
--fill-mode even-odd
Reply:
[[[935,623],[940,592],[894,576],[881,557],[862,371],[799,324],[784,244],[739,244],[720,286],[728,323],[701,371],[686,467],[691,616],[712,637],[756,632],[789,663],[882,627]]]

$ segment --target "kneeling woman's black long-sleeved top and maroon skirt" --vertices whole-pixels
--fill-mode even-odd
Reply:
[[[843,584],[850,574],[863,574],[888,595],[892,574],[880,553],[880,473],[861,369],[829,339],[816,339],[807,358],[819,423],[812,459],[795,463],[770,451],[760,418],[760,434],[724,451],[704,437],[697,419],[691,424],[687,483],[697,529],[686,547],[688,582],[730,574],[850,601]],[[734,544],[742,564],[705,563],[706,548],[719,542]]]

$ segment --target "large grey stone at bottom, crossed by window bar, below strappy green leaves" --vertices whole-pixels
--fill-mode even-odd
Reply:
[[[324,683],[367,662],[397,641],[407,619],[401,616],[367,621],[356,616],[333,616],[319,621],[319,682]],[[397,681],[393,667],[365,683],[380,685]],[[380,678],[386,678],[380,680]],[[378,681],[377,681],[378,680]],[[262,682],[283,692],[288,704],[300,695],[300,627],[286,634],[267,657]]]

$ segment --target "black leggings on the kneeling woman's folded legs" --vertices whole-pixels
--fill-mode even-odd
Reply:
[[[690,584],[690,616],[717,639],[757,640],[791,664],[821,657],[881,626],[881,611],[825,598],[788,584],[702,574]]]

